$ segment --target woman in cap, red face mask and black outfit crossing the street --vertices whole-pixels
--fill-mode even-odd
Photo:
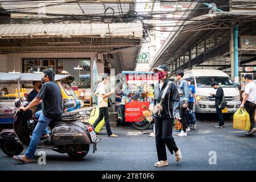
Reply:
[[[167,92],[162,102],[163,111],[159,116],[155,116],[155,141],[156,151],[158,153],[158,162],[155,167],[162,167],[168,165],[166,146],[171,154],[175,152],[176,162],[181,160],[180,148],[176,146],[174,138],[172,137],[172,125],[174,118],[180,119],[179,113],[179,93],[174,83],[167,78],[169,69],[165,65],[159,65],[154,69],[154,73],[158,74],[159,82],[154,88],[154,104],[158,104],[163,95],[164,89],[168,86]]]

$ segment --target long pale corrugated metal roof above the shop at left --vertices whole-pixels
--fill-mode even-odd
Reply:
[[[142,39],[142,23],[0,24],[0,38],[100,36]]]

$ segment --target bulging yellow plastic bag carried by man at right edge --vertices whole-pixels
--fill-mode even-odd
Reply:
[[[250,130],[250,115],[245,109],[238,109],[234,113],[233,128],[240,130]]]

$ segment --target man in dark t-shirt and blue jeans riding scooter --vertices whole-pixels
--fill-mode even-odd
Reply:
[[[43,113],[40,114],[38,123],[33,131],[30,145],[25,155],[14,155],[17,162],[30,163],[34,158],[36,147],[49,123],[63,113],[62,94],[59,85],[54,81],[55,73],[50,69],[44,69],[42,77],[42,89],[34,100],[26,107],[19,107],[19,111],[26,111],[38,105],[42,101]]]

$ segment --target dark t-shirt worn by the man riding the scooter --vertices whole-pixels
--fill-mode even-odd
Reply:
[[[42,99],[43,114],[55,119],[63,113],[63,100],[59,85],[56,82],[46,82],[36,96]]]

